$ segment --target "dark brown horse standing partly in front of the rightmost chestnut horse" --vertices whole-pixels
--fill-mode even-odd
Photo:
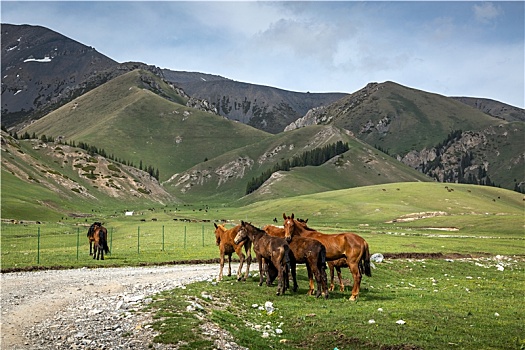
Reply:
[[[274,225],[266,225],[263,230],[276,237],[284,238],[284,228],[277,227]],[[290,245],[290,270],[292,272],[293,279],[293,291],[296,292],[297,285],[297,273],[296,265],[306,264],[306,270],[308,271],[308,279],[310,280],[310,288],[308,289],[307,295],[314,293],[314,276],[317,282],[317,292],[315,296],[318,298],[324,295],[328,298],[327,288],[327,277],[326,277],[326,248],[317,240],[306,237],[293,237],[288,242]]]

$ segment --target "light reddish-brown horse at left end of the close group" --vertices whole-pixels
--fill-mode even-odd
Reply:
[[[224,225],[217,225],[213,224],[215,226],[215,241],[217,246],[219,246],[219,251],[221,254],[221,260],[220,260],[220,269],[219,269],[219,277],[217,278],[217,281],[222,280],[222,270],[224,268],[224,255],[228,256],[228,276],[231,276],[232,274],[232,254],[235,252],[239,256],[239,269],[237,270],[237,281],[240,281],[241,279],[243,281],[246,281],[246,278],[248,277],[248,273],[250,272],[250,264],[252,262],[252,242],[241,242],[239,244],[235,244],[233,241],[235,239],[235,236],[237,235],[237,231],[239,231],[239,228],[241,225],[237,225],[231,229],[226,229]],[[244,251],[246,252],[246,255],[242,252],[242,248],[244,247]],[[246,256],[248,258],[246,258]],[[246,260],[246,273],[244,274],[244,277],[241,278],[242,274],[242,267],[244,265],[244,261]]]

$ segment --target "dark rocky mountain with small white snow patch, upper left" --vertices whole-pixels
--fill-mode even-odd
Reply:
[[[27,121],[37,109],[98,85],[118,63],[40,26],[2,24],[2,124]]]

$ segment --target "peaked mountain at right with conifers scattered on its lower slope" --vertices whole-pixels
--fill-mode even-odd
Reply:
[[[285,130],[335,125],[438,181],[525,187],[525,111],[492,103],[494,117],[485,113],[488,107],[479,108],[483,104],[466,103],[472,101],[394,82],[370,83]]]

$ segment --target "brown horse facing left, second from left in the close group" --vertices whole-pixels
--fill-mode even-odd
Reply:
[[[268,265],[273,264],[277,269],[278,283],[277,295],[284,294],[288,287],[288,271],[290,264],[290,246],[284,238],[270,236],[263,230],[253,226],[250,223],[241,221],[241,227],[235,236],[235,244],[244,240],[250,240],[253,243],[253,251],[259,262],[259,286],[263,283],[263,259]],[[266,274],[266,284],[270,285],[269,273]]]

